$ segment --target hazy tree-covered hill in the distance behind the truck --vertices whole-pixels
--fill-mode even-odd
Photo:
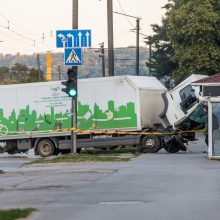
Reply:
[[[98,49],[83,49],[83,65],[78,68],[79,78],[102,76],[102,58]],[[52,54],[52,80],[65,79],[68,67],[64,66],[63,53]],[[108,51],[105,50],[105,74],[108,75]],[[148,75],[145,63],[149,57],[148,49],[140,48],[140,75]],[[135,75],[136,73],[136,48],[115,48],[115,75]],[[37,69],[37,54],[16,55],[0,54],[0,66],[12,67],[15,63]],[[40,54],[40,68],[46,73],[46,54]],[[59,74],[60,72],[60,74]]]

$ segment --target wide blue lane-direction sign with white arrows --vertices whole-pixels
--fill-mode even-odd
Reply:
[[[91,30],[56,31],[56,45],[58,48],[91,47]]]

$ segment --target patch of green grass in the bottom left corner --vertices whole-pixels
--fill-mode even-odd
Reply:
[[[0,210],[0,220],[14,220],[28,217],[34,208]]]

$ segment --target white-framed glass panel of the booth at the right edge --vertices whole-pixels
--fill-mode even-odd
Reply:
[[[220,98],[208,102],[208,153],[210,159],[220,159]]]

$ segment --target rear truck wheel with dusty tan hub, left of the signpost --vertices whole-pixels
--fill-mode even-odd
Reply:
[[[48,139],[42,139],[37,144],[37,152],[41,157],[49,157],[54,154],[54,151],[54,144]]]

